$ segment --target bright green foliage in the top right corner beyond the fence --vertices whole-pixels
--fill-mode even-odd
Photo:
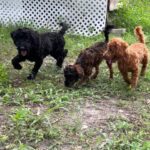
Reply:
[[[149,0],[120,0],[122,8],[110,13],[110,19],[117,27],[124,27],[133,32],[137,25],[143,26],[148,34],[150,27]]]

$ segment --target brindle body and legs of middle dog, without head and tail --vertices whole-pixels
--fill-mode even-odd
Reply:
[[[80,66],[84,72],[84,79],[88,79],[91,76],[92,79],[95,79],[99,73],[99,64],[104,59],[104,54],[107,49],[107,43],[96,43],[93,46],[85,49],[84,52],[81,52],[78,59],[76,60],[75,65]],[[107,62],[110,78],[112,78],[112,68],[109,62]],[[95,68],[94,74],[92,74],[92,69]]]

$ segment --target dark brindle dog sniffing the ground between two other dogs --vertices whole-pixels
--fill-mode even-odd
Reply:
[[[99,64],[104,59],[105,52],[107,51],[108,35],[113,25],[108,25],[105,28],[105,42],[97,42],[93,46],[86,48],[81,52],[74,65],[68,65],[64,69],[65,86],[70,87],[77,81],[80,83],[88,80],[95,79],[99,73]],[[113,78],[112,64],[106,61],[110,71],[110,78]],[[93,68],[95,72],[93,73]]]

